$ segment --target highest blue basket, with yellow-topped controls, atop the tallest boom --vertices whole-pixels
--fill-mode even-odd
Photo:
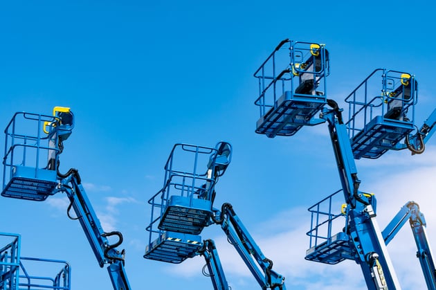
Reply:
[[[256,133],[291,136],[304,125],[316,125],[314,116],[327,103],[325,78],[329,55],[323,44],[285,39],[254,73],[259,80],[260,108]]]

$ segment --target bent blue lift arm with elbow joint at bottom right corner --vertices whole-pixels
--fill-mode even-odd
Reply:
[[[433,261],[433,253],[428,244],[426,235],[426,220],[424,215],[419,211],[419,206],[414,201],[408,201],[390,221],[388,226],[383,230],[382,235],[385,243],[388,244],[399,230],[409,221],[412,228],[413,237],[417,244],[417,258],[421,264],[424,278],[428,289],[436,289],[436,269]]]

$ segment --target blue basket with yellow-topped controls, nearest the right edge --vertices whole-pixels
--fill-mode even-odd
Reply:
[[[380,86],[381,80],[381,86]],[[418,88],[414,75],[376,69],[345,102],[354,158],[379,158],[415,129]]]

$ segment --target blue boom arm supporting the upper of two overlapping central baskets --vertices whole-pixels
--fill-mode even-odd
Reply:
[[[230,203],[224,203],[221,206],[221,212],[217,210],[212,219],[215,224],[221,225],[230,244],[236,248],[262,289],[286,289],[284,277],[272,270],[273,261],[266,258],[260,251]]]

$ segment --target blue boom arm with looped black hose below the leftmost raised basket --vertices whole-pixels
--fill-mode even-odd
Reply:
[[[87,236],[100,267],[109,264],[107,271],[109,272],[113,289],[131,290],[124,268],[125,251],[118,251],[116,249],[122,243],[122,234],[117,231],[105,233],[102,229],[100,220],[84,191],[78,170],[71,169],[66,174],[60,174],[60,172],[57,172],[57,174],[60,177],[58,190],[66,192],[71,202],[67,212],[68,216],[71,219],[78,219],[80,221],[80,225]],[[71,207],[74,209],[76,217],[71,217]],[[107,237],[111,236],[117,236],[118,242],[109,244]]]

